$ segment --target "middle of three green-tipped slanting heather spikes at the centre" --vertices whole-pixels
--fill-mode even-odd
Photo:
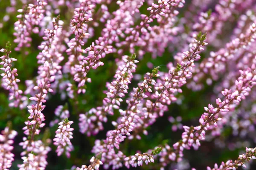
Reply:
[[[133,130],[135,126],[134,122],[136,121],[136,119],[139,119],[139,116],[134,114],[133,110],[137,107],[137,105],[140,104],[140,101],[143,99],[143,97],[146,97],[144,94],[145,91],[151,91],[151,85],[155,84],[153,78],[159,76],[157,72],[158,68],[154,68],[152,73],[147,73],[149,77],[144,78],[143,83],[138,84],[138,88],[134,88],[132,98],[126,101],[128,103],[128,109],[126,111],[119,110],[123,116],[121,120],[122,123],[120,122],[119,125],[116,122],[112,123],[113,125],[117,126],[116,130],[108,131],[107,138],[104,141],[95,141],[95,146],[93,147],[92,152],[96,155],[101,154],[101,160],[104,163],[105,169],[108,169],[110,165],[113,165],[113,169],[118,169],[122,167],[121,158],[124,158],[125,156],[121,151],[116,154],[114,147],[119,149],[120,142],[122,142],[126,138],[125,135],[129,136],[129,132]],[[113,155],[114,157],[112,157]]]

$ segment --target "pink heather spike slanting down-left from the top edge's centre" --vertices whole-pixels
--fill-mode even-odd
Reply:
[[[74,80],[79,82],[79,94],[85,93],[85,82],[91,82],[91,79],[87,78],[87,73],[91,68],[96,69],[104,65],[100,59],[104,58],[106,54],[113,53],[114,49],[112,43],[119,41],[118,35],[124,37],[122,31],[133,24],[132,16],[135,11],[138,11],[138,8],[143,5],[143,1],[144,0],[118,1],[120,8],[113,12],[115,17],[107,21],[106,27],[102,30],[102,37],[99,37],[95,43],[93,42],[90,47],[85,49],[88,52],[88,56],[79,59],[81,62],[75,65],[76,73],[74,74]]]

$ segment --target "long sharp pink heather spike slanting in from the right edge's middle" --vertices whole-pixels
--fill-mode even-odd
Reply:
[[[236,88],[224,89],[221,92],[224,99],[216,99],[217,107],[213,107],[211,104],[208,107],[204,107],[206,112],[199,119],[199,126],[183,126],[185,132],[182,133],[182,141],[173,144],[175,151],[169,149],[166,154],[162,155],[163,165],[169,162],[169,160],[175,161],[177,155],[179,155],[177,161],[181,161],[184,149],[189,150],[191,147],[194,147],[197,150],[201,145],[200,141],[205,140],[206,131],[218,126],[217,122],[222,120],[221,115],[229,112],[230,108],[235,108],[242,99],[245,99],[245,96],[249,95],[251,88],[256,85],[256,66],[253,64],[251,68],[247,68],[244,71],[240,70],[240,74],[241,76],[235,82]],[[166,159],[165,157],[168,155],[169,159]]]

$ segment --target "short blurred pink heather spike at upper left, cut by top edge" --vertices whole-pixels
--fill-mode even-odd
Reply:
[[[30,47],[32,32],[39,33],[37,26],[44,18],[44,6],[47,5],[47,2],[44,0],[34,0],[34,2],[34,4],[30,3],[24,9],[18,10],[22,14],[17,15],[18,21],[14,24],[16,32],[13,35],[17,37],[14,42],[18,44],[15,48],[16,51],[20,51],[23,47]]]

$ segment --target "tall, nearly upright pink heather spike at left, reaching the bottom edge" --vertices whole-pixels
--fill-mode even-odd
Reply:
[[[20,142],[20,145],[25,149],[21,153],[23,164],[19,165],[20,170],[39,167],[44,169],[47,166],[47,153],[51,150],[47,145],[51,140],[47,140],[47,144],[45,144],[41,140],[35,140],[35,135],[38,135],[40,133],[39,128],[45,125],[45,123],[42,123],[45,120],[42,111],[45,108],[43,103],[46,102],[48,92],[53,91],[50,88],[50,82],[55,80],[55,74],[61,74],[59,63],[64,57],[58,51],[59,37],[62,30],[59,21],[60,16],[52,20],[53,28],[45,30],[46,36],[43,37],[45,42],[42,42],[38,47],[42,52],[37,56],[38,63],[41,64],[38,67],[37,85],[33,88],[37,92],[35,96],[29,98],[31,101],[35,101],[36,104],[28,106],[29,119],[32,119],[32,121],[26,121],[26,126],[23,127],[24,134],[28,137],[23,137],[23,142]]]

